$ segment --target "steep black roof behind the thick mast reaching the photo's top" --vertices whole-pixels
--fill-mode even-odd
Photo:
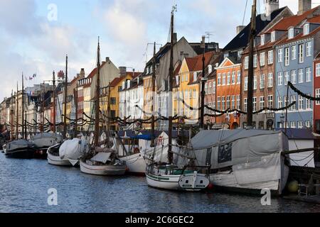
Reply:
[[[273,11],[270,15],[271,20],[265,20],[264,15],[262,16],[262,14],[256,16],[255,21],[257,25],[257,34],[260,33],[271,21],[274,20],[274,18],[279,15],[279,13],[281,13],[286,8],[287,7],[283,7],[281,9],[277,9],[276,11]],[[225,46],[225,48],[223,48],[223,51],[237,50],[247,47],[250,28],[251,22],[238,35],[236,35],[235,38],[233,38],[233,40],[231,40],[230,43]]]

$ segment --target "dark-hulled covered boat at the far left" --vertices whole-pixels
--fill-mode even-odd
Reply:
[[[14,140],[6,144],[6,157],[30,159],[34,157],[33,143],[28,140]]]

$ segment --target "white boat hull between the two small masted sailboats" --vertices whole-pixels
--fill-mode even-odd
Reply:
[[[146,173],[146,162],[144,157],[140,153],[121,157],[120,160],[126,162],[127,174],[145,176]]]

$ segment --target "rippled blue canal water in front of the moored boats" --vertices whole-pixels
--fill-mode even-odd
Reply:
[[[48,205],[48,189],[58,205]],[[259,196],[166,192],[149,188],[144,177],[98,177],[78,168],[55,167],[46,160],[15,160],[0,153],[0,212],[320,212],[320,206]]]

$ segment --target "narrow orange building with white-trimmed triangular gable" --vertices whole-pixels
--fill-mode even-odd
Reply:
[[[220,111],[240,109],[241,63],[232,57],[225,57],[225,60],[215,70],[217,70],[216,109]],[[216,124],[228,124],[231,129],[238,128],[240,126],[240,114],[233,111],[218,116]]]

